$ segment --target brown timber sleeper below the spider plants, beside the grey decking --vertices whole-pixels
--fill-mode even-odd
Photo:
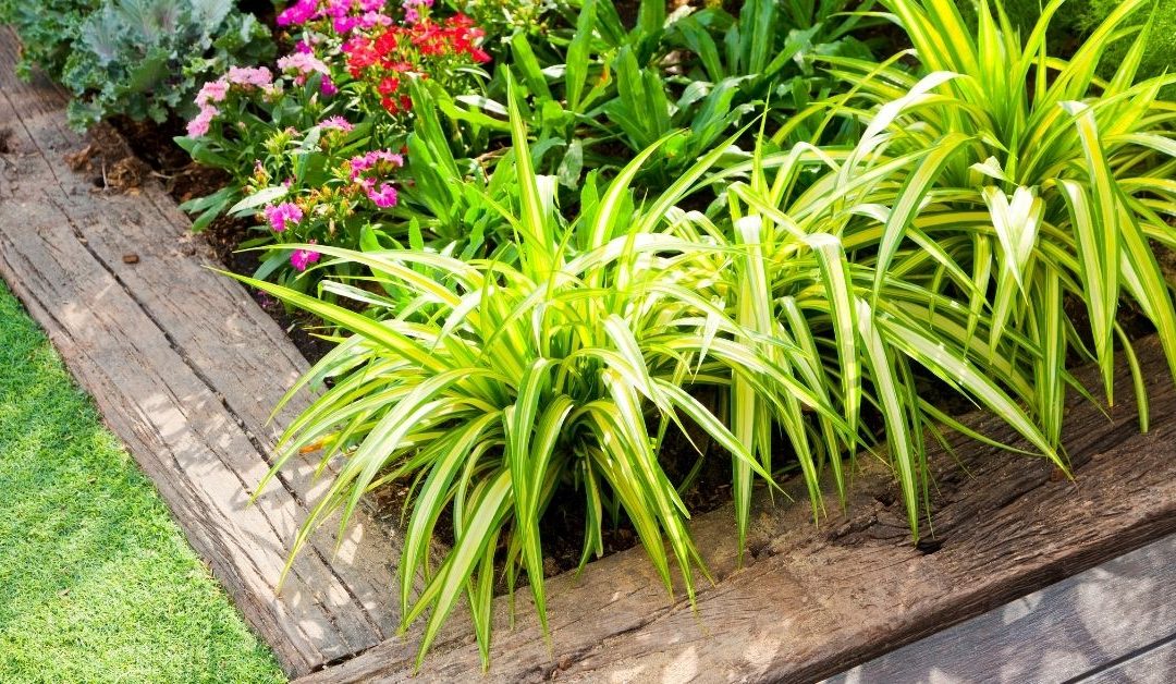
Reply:
[[[1076,483],[1043,459],[954,437],[958,461],[931,456],[936,538],[915,547],[893,477],[863,459],[848,513],[833,511],[818,527],[801,485],[797,503],[760,497],[742,569],[731,510],[700,516],[693,531],[717,584],[695,609],[680,593],[667,597],[640,550],[593,563],[579,579],[549,580],[549,643],[524,592],[513,629],[508,602],[496,599],[493,665],[479,680],[815,680],[1171,533],[1176,387],[1155,338],[1137,351],[1152,431],[1138,433],[1125,367],[1116,376],[1122,409],[1110,417],[1070,397],[1063,440]],[[1097,383],[1095,368],[1078,376]],[[1021,444],[989,414],[965,421]],[[450,625],[426,659],[429,678],[477,672],[461,627]],[[410,656],[405,643],[389,643],[305,682],[408,680]]]

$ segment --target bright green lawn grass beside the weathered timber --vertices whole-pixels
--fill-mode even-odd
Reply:
[[[279,682],[0,284],[0,682]]]

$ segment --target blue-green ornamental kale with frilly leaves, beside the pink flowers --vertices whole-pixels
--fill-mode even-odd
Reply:
[[[108,0],[80,25],[61,73],[74,95],[69,122],[186,115],[206,80],[273,51],[269,29],[233,0]]]

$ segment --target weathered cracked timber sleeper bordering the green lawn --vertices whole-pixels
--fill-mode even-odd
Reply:
[[[326,483],[307,460],[247,505],[290,416],[269,424],[268,413],[306,361],[241,287],[206,268],[215,258],[158,184],[99,193],[66,168],[65,154],[86,139],[65,126],[59,89],[13,77],[16,49],[0,28],[0,127],[9,132],[0,275],[289,673],[386,640],[399,622],[395,539],[360,514],[336,553],[323,529],[278,596],[286,550]]]

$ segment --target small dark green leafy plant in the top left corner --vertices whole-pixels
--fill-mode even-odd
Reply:
[[[52,79],[60,79],[82,20],[101,0],[0,0],[0,24],[12,25],[21,40],[16,74],[29,78],[40,68]]]

